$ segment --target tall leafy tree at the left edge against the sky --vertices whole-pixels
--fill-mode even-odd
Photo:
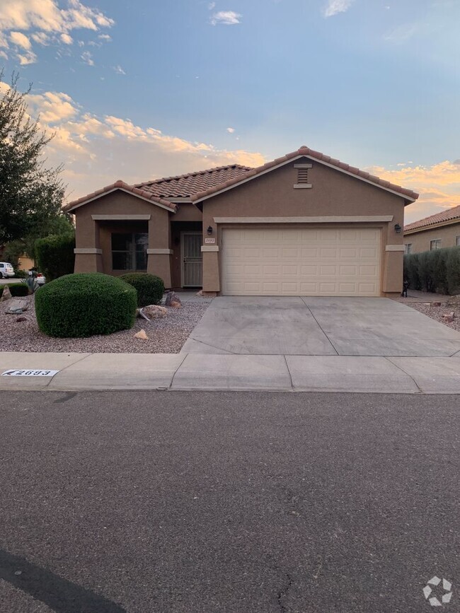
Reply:
[[[65,191],[62,166],[45,167],[43,154],[52,136],[28,115],[30,88],[21,93],[17,84],[13,74],[0,99],[0,245],[43,235],[42,228],[61,217]]]

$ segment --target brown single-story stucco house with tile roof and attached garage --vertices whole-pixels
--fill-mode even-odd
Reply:
[[[301,147],[69,203],[75,272],[147,271],[209,295],[391,296],[418,194]]]

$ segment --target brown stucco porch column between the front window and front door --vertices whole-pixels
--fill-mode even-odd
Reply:
[[[163,211],[161,211],[163,213]],[[166,288],[171,287],[171,228],[169,216],[152,215],[149,220],[149,247],[147,249],[147,272],[163,279]]]

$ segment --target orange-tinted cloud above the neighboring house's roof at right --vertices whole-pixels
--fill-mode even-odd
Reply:
[[[410,223],[460,204],[458,161],[444,160],[431,166],[411,166],[409,162],[397,170],[388,170],[381,166],[373,166],[366,170],[372,175],[396,185],[409,187],[420,194],[414,204],[406,207],[405,223]]]

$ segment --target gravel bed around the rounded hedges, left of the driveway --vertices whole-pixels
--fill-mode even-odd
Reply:
[[[40,291],[40,290],[39,290]],[[42,334],[35,318],[34,296],[27,300],[26,320],[16,322],[17,315],[6,315],[11,300],[0,303],[0,351],[57,351],[86,354],[178,354],[192,329],[209,306],[209,300],[185,300],[182,308],[168,308],[164,319],[148,322],[137,318],[134,327],[108,336],[86,339],[54,339]],[[134,334],[144,329],[148,340]]]

